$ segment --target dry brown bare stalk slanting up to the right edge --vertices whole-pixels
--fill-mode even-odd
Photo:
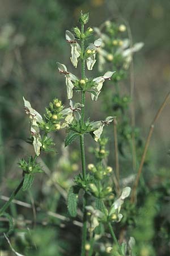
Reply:
[[[135,201],[135,197],[136,197],[136,193],[137,193],[137,187],[138,187],[138,183],[139,183],[139,179],[140,179],[140,176],[141,176],[141,173],[142,173],[142,168],[143,168],[143,164],[145,162],[145,158],[146,158],[146,153],[147,153],[147,150],[148,150],[148,146],[150,144],[150,141],[151,141],[151,137],[152,137],[152,133],[154,131],[154,127],[155,127],[155,122],[158,120],[160,114],[162,113],[165,105],[167,104],[167,101],[169,100],[170,98],[170,92],[167,94],[167,96],[165,97],[162,105],[160,106],[158,112],[156,113],[155,115],[155,118],[154,120],[152,121],[151,123],[151,126],[150,126],[150,130],[148,132],[148,136],[147,136],[147,139],[146,139],[146,143],[145,143],[145,148],[143,150],[143,154],[142,154],[142,159],[141,159],[141,163],[140,163],[140,166],[139,166],[139,169],[138,169],[138,173],[137,173],[137,177],[134,181],[134,185],[133,185],[133,189],[132,189],[132,192],[131,192],[131,203],[134,203]]]

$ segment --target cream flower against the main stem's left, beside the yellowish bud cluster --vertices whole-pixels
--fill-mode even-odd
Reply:
[[[74,119],[76,119],[76,121],[80,120],[81,115],[80,115],[79,111],[81,110],[81,108],[83,106],[84,105],[82,105],[80,103],[74,103],[72,100],[70,100],[70,108],[63,109],[61,111],[62,115],[66,115],[66,118],[65,118],[66,122],[63,123],[62,128],[69,125],[71,122],[73,122]]]

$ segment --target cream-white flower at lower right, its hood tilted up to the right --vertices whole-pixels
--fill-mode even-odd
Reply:
[[[117,214],[117,222],[121,221],[123,215],[120,213],[121,210],[121,206],[124,203],[124,200],[126,199],[126,197],[128,197],[130,195],[131,192],[131,188],[130,187],[126,187],[123,189],[121,196],[114,201],[114,203],[111,206],[111,209],[109,211],[109,216],[111,216],[112,214],[116,213]]]

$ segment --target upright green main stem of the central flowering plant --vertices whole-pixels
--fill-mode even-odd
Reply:
[[[85,60],[84,60],[84,24],[81,25],[81,34],[82,34],[82,56],[81,56],[81,64],[82,64],[82,79],[85,79]],[[81,119],[80,123],[83,125],[84,123],[84,105],[85,105],[85,92],[82,90],[82,110],[81,110]],[[82,159],[82,175],[83,180],[86,180],[86,158],[85,158],[85,151],[84,151],[84,135],[80,135],[80,152],[81,152],[81,159]],[[85,256],[86,250],[86,237],[87,237],[87,212],[86,212],[86,204],[87,204],[87,195],[84,194],[83,199],[83,229],[82,229],[82,250],[81,256]]]

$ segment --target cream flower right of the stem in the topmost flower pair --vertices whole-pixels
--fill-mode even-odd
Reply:
[[[96,63],[96,51],[101,46],[101,43],[102,43],[102,40],[101,38],[99,38],[95,40],[94,44],[90,44],[90,46],[86,48],[86,54],[90,55],[86,59],[88,70],[92,70]]]

